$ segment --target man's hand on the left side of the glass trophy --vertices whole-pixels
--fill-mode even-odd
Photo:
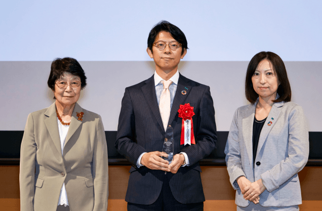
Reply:
[[[167,154],[162,154],[159,151],[145,153],[141,158],[141,164],[148,169],[170,171],[169,162],[162,159],[161,156],[167,157]]]

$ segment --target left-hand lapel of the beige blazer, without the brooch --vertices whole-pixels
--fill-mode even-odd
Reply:
[[[49,142],[52,147],[54,156],[59,161],[60,159],[62,159],[62,156],[61,156],[60,137],[59,137],[59,131],[58,131],[55,103],[53,103],[50,107],[48,107],[47,111],[45,112],[45,115],[48,118],[45,119],[44,122],[51,136],[51,139],[49,140]]]

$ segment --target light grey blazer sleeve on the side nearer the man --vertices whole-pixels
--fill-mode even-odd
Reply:
[[[226,166],[229,174],[229,181],[235,190],[239,189],[236,179],[240,176],[246,177],[246,174],[241,164],[241,154],[239,149],[239,138],[238,138],[239,128],[238,128],[237,120],[238,120],[238,109],[234,114],[230,129],[229,129],[226,146],[225,146],[225,154],[226,154],[225,160],[226,160]]]

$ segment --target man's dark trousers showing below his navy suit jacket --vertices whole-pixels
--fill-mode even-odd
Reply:
[[[161,193],[152,205],[138,205],[127,203],[128,211],[203,211],[204,203],[181,204],[172,195],[166,174],[163,177]]]

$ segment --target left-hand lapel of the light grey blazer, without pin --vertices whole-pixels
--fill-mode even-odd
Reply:
[[[247,114],[243,117],[242,128],[243,128],[243,137],[246,145],[246,151],[248,154],[249,162],[253,169],[253,124],[255,117],[255,105],[250,104]]]

